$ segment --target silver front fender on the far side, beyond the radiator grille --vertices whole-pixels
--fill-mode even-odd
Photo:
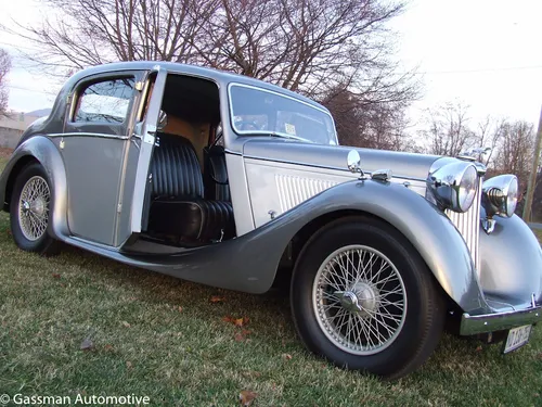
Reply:
[[[493,232],[480,232],[480,285],[488,296],[514,306],[542,303],[542,250],[518,216],[495,218]]]

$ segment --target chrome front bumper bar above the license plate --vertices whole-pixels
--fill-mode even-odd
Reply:
[[[542,321],[542,306],[509,313],[469,315],[461,317],[461,335],[503,331],[511,328]]]

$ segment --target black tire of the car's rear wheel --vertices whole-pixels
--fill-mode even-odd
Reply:
[[[41,180],[44,181],[47,185],[47,188],[50,193],[49,200],[41,201],[41,207],[40,211],[41,213],[46,214],[44,216],[44,231],[42,233],[36,233],[36,239],[29,239],[27,236],[25,236],[25,232],[23,229],[25,228],[21,222],[24,214],[21,214],[21,205],[22,205],[22,200],[21,195],[23,193],[23,189],[27,185],[27,182],[30,179],[38,180],[41,182]],[[43,186],[43,185],[41,185]],[[50,233],[50,209],[51,209],[51,196],[52,196],[52,188],[51,188],[51,182],[49,181],[49,177],[43,169],[43,167],[38,164],[38,163],[33,163],[24,167],[21,173],[18,174],[15,185],[13,186],[13,191],[11,195],[11,203],[10,203],[10,224],[11,224],[11,232],[13,236],[13,240],[15,241],[15,244],[26,251],[26,252],[34,252],[38,253],[44,256],[51,256],[55,255],[60,251],[60,242],[53,239]],[[30,216],[30,215],[28,215]]]

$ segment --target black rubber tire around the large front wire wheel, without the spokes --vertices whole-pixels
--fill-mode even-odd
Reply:
[[[360,341],[359,349],[350,352],[349,349],[339,347],[341,346],[341,343],[332,342],[330,335],[333,336],[337,333],[337,327],[333,325],[336,322],[328,322],[330,325],[325,326],[328,333],[325,333],[322,325],[327,322],[322,321],[325,318],[327,318],[325,320],[332,321],[335,317],[328,317],[328,313],[331,313],[331,310],[322,311],[322,309],[325,309],[328,305],[325,303],[322,306],[319,305],[319,301],[323,302],[324,300],[318,300],[319,297],[315,294],[317,292],[322,293],[320,298],[326,298],[324,295],[328,295],[327,293],[318,291],[319,287],[326,287],[327,290],[330,287],[327,282],[315,284],[315,279],[320,267],[323,266],[323,262],[326,260],[331,254],[336,253],[337,250],[347,246],[353,247],[353,245],[365,246],[379,252],[384,255],[380,257],[383,258],[383,262],[385,262],[384,258],[387,257],[386,260],[389,260],[392,266],[395,266],[395,268],[392,266],[389,267],[391,270],[389,274],[393,274],[393,276],[399,274],[400,278],[397,279],[397,281],[401,281],[402,279],[402,285],[399,287],[404,289],[401,290],[401,294],[393,295],[403,295],[402,293],[405,293],[403,309],[400,310],[399,307],[396,308],[398,315],[401,313],[400,318],[402,318],[402,325],[397,322],[395,333],[389,334],[388,342],[383,342],[383,349],[370,349],[370,352],[373,352],[372,354],[360,355],[362,352],[367,352],[363,349],[365,345],[361,344],[361,341],[366,342],[366,335],[361,333],[361,329],[359,330],[359,335],[354,333],[346,333],[348,338],[352,338],[354,341]],[[358,258],[361,258],[363,251],[365,251],[365,249],[358,249],[358,252],[356,249],[351,249],[350,253],[357,254],[350,255],[359,255]],[[351,264],[353,265],[353,263],[354,262]],[[338,263],[333,264],[337,265]],[[376,267],[375,265],[371,267]],[[352,271],[354,270],[354,268],[350,269]],[[326,269],[323,269],[322,274],[325,270]],[[328,268],[327,270],[331,269]],[[322,276],[322,274],[320,276]],[[335,274],[335,276],[338,276],[338,274]],[[379,279],[377,276],[375,278],[376,280]],[[370,280],[373,280],[373,277],[363,281],[371,284]],[[382,281],[384,281],[384,279]],[[361,284],[361,282],[357,282],[356,284]],[[387,284],[387,282],[383,282],[383,284]],[[399,284],[401,283],[399,282]],[[379,289],[377,284],[372,287],[375,290],[373,293],[377,294],[366,296],[370,298],[367,301],[385,297],[385,295],[383,296],[382,294],[382,292],[385,292],[384,285],[380,285]],[[313,289],[315,290],[314,292]],[[338,292],[339,291],[334,292],[333,295],[337,295]],[[360,293],[362,292],[363,291],[360,291]],[[360,298],[363,298],[363,296],[360,296]],[[344,300],[345,298],[341,297],[341,300],[332,300],[332,302],[338,301],[338,306],[334,305],[334,307],[339,309],[340,307],[345,308],[346,310],[343,310],[343,314],[356,315],[356,317],[352,317],[354,318],[354,322],[352,322],[353,325],[365,323],[359,322],[360,318],[364,321],[372,318],[370,314],[364,314],[364,316],[360,317],[359,310],[356,310],[354,313],[348,310],[344,305]],[[346,301],[348,302],[350,300],[347,298]],[[363,303],[362,300],[360,300],[360,304],[372,304],[371,307],[367,305],[367,309],[378,311],[383,309],[383,305],[380,304],[382,300],[376,301],[378,303]],[[356,302],[358,302],[358,300],[356,300]],[[350,217],[343,219],[325,227],[309,240],[300,253],[294,270],[291,289],[291,304],[296,329],[305,345],[311,352],[324,356],[336,366],[366,371],[387,379],[398,379],[408,374],[420,367],[429,357],[441,336],[446,315],[443,295],[420,254],[414,250],[410,242],[391,226],[384,221],[369,217]],[[400,301],[398,304],[400,304]],[[350,304],[347,305],[350,306]],[[321,307],[319,308],[320,316],[317,316],[318,307]],[[384,307],[389,307],[389,305],[384,305]],[[322,315],[324,315],[324,317],[322,317]],[[336,315],[338,315],[338,311]],[[348,316],[347,318],[350,317]],[[383,321],[386,320],[383,319]],[[374,323],[378,327],[376,321]],[[337,322],[337,325],[339,323]],[[350,321],[348,321],[348,327],[350,327]],[[339,333],[341,332],[340,329],[341,328],[338,328]],[[382,332],[386,334],[386,331]],[[344,340],[346,336],[340,338]],[[339,340],[337,341],[340,342]],[[345,342],[343,342],[343,344]],[[351,346],[352,341],[348,343],[349,346]],[[369,342],[366,343],[369,344]],[[369,347],[366,348],[369,349]]]

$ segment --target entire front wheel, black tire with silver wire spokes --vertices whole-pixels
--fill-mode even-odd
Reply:
[[[372,218],[315,234],[300,254],[291,295],[310,351],[389,379],[422,365],[442,332],[444,306],[430,270],[401,233]]]

